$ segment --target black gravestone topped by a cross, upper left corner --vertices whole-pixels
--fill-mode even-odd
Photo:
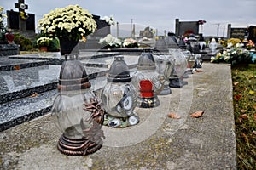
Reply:
[[[35,37],[35,14],[26,13],[28,5],[24,3],[24,0],[15,3],[15,8],[18,8],[19,12],[7,11],[7,26],[25,37]]]

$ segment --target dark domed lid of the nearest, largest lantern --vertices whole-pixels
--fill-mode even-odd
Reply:
[[[69,54],[70,58],[61,65],[58,90],[73,91],[90,88],[89,78],[84,65],[77,60],[78,54]],[[74,56],[75,55],[75,56]]]

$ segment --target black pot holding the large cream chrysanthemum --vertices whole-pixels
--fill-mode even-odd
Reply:
[[[61,55],[79,54],[79,41],[60,38]]]

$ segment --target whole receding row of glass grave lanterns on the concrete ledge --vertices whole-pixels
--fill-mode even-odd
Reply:
[[[52,107],[55,125],[61,132],[58,150],[69,156],[84,156],[102,147],[102,126],[129,127],[139,122],[136,107],[160,105],[158,95],[182,88],[183,76],[192,73],[193,54],[168,48],[142,53],[131,77],[123,56],[114,57],[106,85],[100,94],[90,90],[90,81],[78,54],[69,54],[61,65],[59,94]]]

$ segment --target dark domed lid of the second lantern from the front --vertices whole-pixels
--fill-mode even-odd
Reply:
[[[131,82],[130,71],[125,63],[124,56],[114,57],[107,80],[108,82]]]

